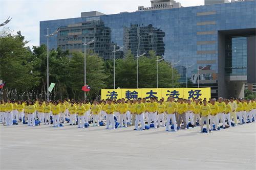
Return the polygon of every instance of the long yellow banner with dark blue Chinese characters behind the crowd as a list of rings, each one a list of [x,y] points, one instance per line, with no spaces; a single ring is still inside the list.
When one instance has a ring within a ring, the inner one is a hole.
[[[206,88],[133,88],[133,89],[101,89],[101,99],[122,99],[132,100],[138,98],[146,98],[149,100],[151,97],[158,99],[164,98],[167,100],[169,96],[173,98],[183,99],[204,99],[207,100],[211,97],[210,87]]]

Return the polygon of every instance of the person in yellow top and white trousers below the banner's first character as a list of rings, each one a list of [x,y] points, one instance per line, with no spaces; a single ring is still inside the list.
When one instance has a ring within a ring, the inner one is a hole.
[[[114,120],[114,111],[116,110],[116,107],[114,104],[112,104],[111,99],[108,100],[108,103],[105,106],[106,111],[106,129],[109,129],[109,126],[111,124],[112,129],[115,129],[115,120]]]

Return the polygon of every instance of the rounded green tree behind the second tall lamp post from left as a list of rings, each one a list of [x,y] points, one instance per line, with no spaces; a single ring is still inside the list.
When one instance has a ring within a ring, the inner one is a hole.
[[[104,63],[102,58],[92,52],[86,54],[86,80],[91,87],[88,93],[89,98],[100,93],[100,89],[105,88],[105,80],[108,76],[104,72]],[[83,99],[84,85],[84,54],[81,52],[73,53],[68,67],[68,85],[72,90],[72,97]]]

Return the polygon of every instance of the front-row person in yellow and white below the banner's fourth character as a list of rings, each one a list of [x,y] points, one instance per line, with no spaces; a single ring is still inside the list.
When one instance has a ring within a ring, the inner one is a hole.
[[[174,126],[174,131],[177,131],[177,123],[176,123],[176,111],[178,110],[177,104],[174,102],[172,97],[168,98],[168,102],[165,105],[166,112],[166,131],[170,130],[170,119],[172,119],[172,125]]]

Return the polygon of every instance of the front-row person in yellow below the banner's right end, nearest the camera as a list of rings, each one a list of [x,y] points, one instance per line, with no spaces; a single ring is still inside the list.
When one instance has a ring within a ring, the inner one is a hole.
[[[200,123],[201,132],[203,132],[203,126],[204,126],[204,122],[205,122],[207,133],[209,133],[209,115],[211,113],[211,110],[210,110],[210,106],[207,105],[206,100],[203,100],[203,105],[200,106],[200,112],[201,112],[201,115],[202,115],[201,123]]]

